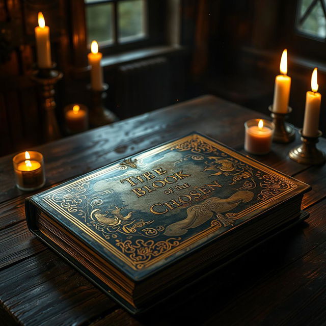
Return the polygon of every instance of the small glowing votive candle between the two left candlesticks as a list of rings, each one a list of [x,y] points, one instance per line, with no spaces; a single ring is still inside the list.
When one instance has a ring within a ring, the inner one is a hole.
[[[66,106],[66,127],[69,132],[80,132],[87,129],[87,108],[82,104]]]

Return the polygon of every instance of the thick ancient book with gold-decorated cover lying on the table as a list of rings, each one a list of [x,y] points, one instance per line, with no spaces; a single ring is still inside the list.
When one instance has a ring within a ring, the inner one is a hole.
[[[194,132],[26,199],[28,226],[131,313],[307,216],[310,186]]]

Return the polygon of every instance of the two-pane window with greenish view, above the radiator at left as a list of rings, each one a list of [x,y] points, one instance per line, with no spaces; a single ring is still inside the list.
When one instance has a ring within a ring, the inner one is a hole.
[[[97,40],[100,47],[145,40],[147,35],[146,0],[85,0],[88,44]]]

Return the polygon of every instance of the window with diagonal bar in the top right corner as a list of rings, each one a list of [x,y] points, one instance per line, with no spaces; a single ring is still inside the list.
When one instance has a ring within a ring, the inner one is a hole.
[[[298,1],[296,29],[307,37],[324,40],[326,37],[325,0]]]

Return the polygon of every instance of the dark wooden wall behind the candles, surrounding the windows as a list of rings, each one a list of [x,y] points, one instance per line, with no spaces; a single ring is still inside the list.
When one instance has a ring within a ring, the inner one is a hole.
[[[164,14],[167,0],[157,1],[162,13],[157,29],[164,30],[170,21]],[[130,107],[129,111],[124,110],[119,105],[123,97],[119,67],[128,62],[118,60],[117,64],[104,67],[105,82],[110,85],[106,105],[112,111],[125,118],[211,93],[267,113],[273,101],[281,53],[286,47],[288,74],[292,77],[293,113],[289,120],[302,126],[305,93],[310,89],[312,69],[317,66],[323,95],[320,129],[326,132],[326,64],[322,54],[325,45],[309,40],[302,43],[303,39],[295,34],[297,0],[180,0],[180,3],[183,47],[163,55],[170,70],[169,80],[165,78],[168,89],[161,87],[167,92],[162,91],[157,98],[164,100],[148,101],[144,108],[144,101],[136,99],[131,111]],[[38,11],[44,13],[50,26],[53,61],[64,72],[57,87],[61,126],[64,105],[89,104],[84,0],[0,0],[0,155],[42,143],[39,132],[42,112],[35,85],[29,78],[35,62],[34,27]],[[154,45],[167,45],[167,38],[162,34]],[[162,53],[145,55],[145,59],[159,56]],[[159,76],[154,82],[159,88]],[[148,95],[144,92],[140,98]]]

